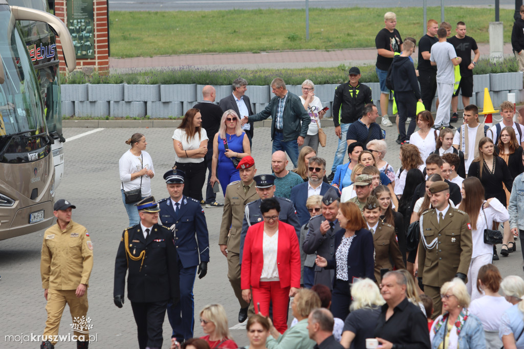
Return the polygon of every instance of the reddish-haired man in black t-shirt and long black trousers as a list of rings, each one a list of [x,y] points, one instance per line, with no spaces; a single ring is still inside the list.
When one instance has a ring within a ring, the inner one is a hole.
[[[436,37],[436,32],[439,30],[439,24],[436,20],[428,20],[428,32],[419,40],[419,83],[420,95],[425,110],[431,112],[431,104],[436,92],[436,66],[432,66],[430,62],[431,46],[439,39]]]

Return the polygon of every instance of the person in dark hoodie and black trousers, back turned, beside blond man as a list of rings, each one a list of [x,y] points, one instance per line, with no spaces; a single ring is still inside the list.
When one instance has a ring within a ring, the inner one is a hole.
[[[412,41],[404,41],[403,52],[400,56],[395,56],[391,68],[391,78],[395,88],[395,102],[398,110],[398,130],[401,144],[409,143],[409,136],[414,132],[417,124],[417,100],[420,99],[419,83],[409,56],[415,51],[415,44]],[[406,119],[411,117],[408,133],[406,134]]]

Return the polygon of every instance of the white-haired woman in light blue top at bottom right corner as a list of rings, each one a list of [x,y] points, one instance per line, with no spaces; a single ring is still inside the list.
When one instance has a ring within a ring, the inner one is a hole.
[[[524,348],[524,280],[516,275],[504,278],[500,283],[504,297],[513,304],[500,318],[498,336],[505,348]]]

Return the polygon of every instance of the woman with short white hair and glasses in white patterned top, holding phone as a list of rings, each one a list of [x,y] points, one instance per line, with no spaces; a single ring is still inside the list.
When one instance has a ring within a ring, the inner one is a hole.
[[[300,96],[300,101],[311,117],[308,134],[305,136],[304,144],[300,146],[300,149],[305,146],[310,146],[318,154],[319,125],[325,111],[322,111],[322,103],[320,103],[319,97],[315,96],[315,84],[311,80],[304,80],[302,83],[302,95]]]

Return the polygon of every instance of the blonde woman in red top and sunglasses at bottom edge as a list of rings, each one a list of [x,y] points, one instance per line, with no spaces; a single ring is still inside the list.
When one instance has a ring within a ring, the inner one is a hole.
[[[200,312],[200,325],[206,334],[201,337],[211,349],[236,349],[227,324],[227,314],[221,304],[210,304]]]

